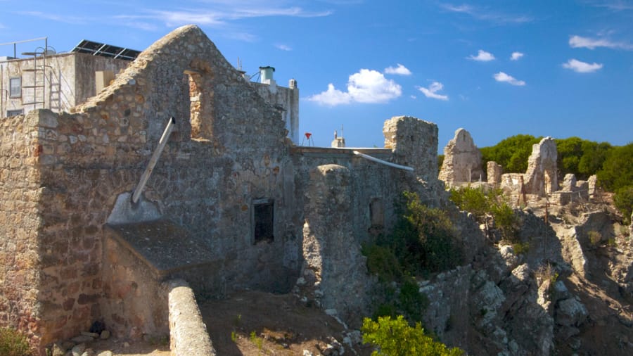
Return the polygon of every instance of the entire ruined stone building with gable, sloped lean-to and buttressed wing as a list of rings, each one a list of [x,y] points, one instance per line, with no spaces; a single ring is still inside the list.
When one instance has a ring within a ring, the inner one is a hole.
[[[174,278],[202,298],[287,292],[309,276],[321,305],[361,317],[370,286],[354,282],[366,274],[359,242],[390,228],[402,190],[442,194],[437,126],[394,117],[385,148],[356,153],[295,146],[289,87],[251,84],[190,25],[70,113],[3,119],[0,326],[27,332],[38,350],[95,320],[120,336],[168,333],[164,282]]]

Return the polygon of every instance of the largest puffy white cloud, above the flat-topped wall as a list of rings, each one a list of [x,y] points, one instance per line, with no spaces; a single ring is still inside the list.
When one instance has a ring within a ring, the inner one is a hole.
[[[383,73],[362,69],[350,75],[347,81],[347,92],[335,89],[333,84],[328,84],[328,90],[309,96],[307,100],[337,106],[352,102],[386,103],[400,95],[402,95],[402,87],[393,80],[385,78]]]

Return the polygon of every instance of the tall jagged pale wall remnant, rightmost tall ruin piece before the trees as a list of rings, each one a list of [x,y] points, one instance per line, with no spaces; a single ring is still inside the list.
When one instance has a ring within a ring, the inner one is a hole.
[[[544,196],[546,192],[558,190],[556,158],[556,141],[551,137],[545,137],[532,146],[528,171],[525,172],[525,193]]]

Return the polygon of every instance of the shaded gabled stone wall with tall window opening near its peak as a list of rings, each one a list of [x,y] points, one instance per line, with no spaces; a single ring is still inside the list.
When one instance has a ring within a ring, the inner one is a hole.
[[[195,97],[186,72],[193,73]],[[103,225],[117,196],[134,189],[170,116],[177,117],[177,132],[146,198],[203,236],[229,288],[290,289],[301,227],[287,223],[293,179],[281,113],[198,27],[160,39],[75,112],[34,112],[39,146],[25,153],[32,160],[37,151],[31,167],[41,174],[39,215],[28,215],[42,220],[34,238],[46,246],[33,257],[41,259],[41,346],[87,329],[105,310],[102,299],[112,286],[103,280]],[[274,241],[252,239],[257,198],[274,201]]]

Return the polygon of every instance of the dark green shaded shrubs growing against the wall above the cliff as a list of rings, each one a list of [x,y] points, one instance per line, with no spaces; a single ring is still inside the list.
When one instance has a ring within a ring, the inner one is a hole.
[[[404,192],[397,202],[392,234],[363,246],[367,269],[382,282],[383,300],[375,317],[404,315],[421,322],[428,305],[416,277],[452,269],[462,261],[452,222],[445,211],[428,208],[416,193]]]

